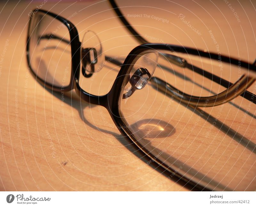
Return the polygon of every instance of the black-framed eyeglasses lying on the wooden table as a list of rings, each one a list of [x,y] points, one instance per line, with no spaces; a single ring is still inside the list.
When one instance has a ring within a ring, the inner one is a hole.
[[[115,2],[111,4],[118,16],[122,16]],[[104,60],[109,59],[104,57],[97,35],[88,31],[80,42],[76,27],[67,19],[44,10],[33,11],[28,28],[27,60],[36,80],[56,92],[75,89],[84,101],[105,107],[122,135],[173,175],[203,188],[229,189],[229,184],[213,179],[214,172],[199,173],[180,162],[179,157],[172,157],[170,146],[175,148],[182,144],[180,140],[172,140],[176,130],[169,123],[175,112],[172,100],[178,100],[180,108],[222,105],[239,95],[255,103],[255,95],[246,89],[255,81],[256,67],[221,55],[223,73],[229,78],[231,74],[236,77],[237,73],[238,80],[232,84],[222,78],[218,54],[147,43],[124,17],[120,18],[135,37],[146,44],[134,48],[124,63],[112,61],[121,69],[110,91],[98,96],[86,92],[79,83],[81,76],[91,78],[100,72]],[[211,71],[219,71],[221,76]],[[189,78],[191,76],[194,80]],[[215,83],[221,87],[215,87]],[[201,118],[206,115],[202,113]],[[155,143],[149,140],[152,137]]]

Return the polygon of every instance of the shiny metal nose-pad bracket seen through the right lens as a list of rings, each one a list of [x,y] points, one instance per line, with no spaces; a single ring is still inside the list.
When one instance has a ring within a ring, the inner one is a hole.
[[[129,98],[136,90],[144,88],[150,78],[151,75],[146,68],[136,70],[129,80],[131,84],[130,90],[123,94],[123,99]]]

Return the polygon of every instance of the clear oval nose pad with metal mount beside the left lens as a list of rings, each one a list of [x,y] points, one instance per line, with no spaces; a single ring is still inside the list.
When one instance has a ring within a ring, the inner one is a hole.
[[[87,31],[81,42],[82,74],[89,78],[93,73],[99,72],[104,64],[105,56],[100,39],[92,32]]]

